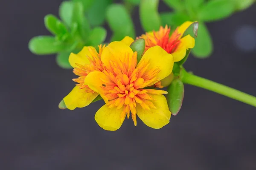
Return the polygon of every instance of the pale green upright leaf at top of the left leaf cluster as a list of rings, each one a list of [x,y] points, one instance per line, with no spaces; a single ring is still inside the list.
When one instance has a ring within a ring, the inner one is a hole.
[[[59,16],[67,26],[71,26],[73,13],[73,3],[70,1],[63,1],[59,7]]]

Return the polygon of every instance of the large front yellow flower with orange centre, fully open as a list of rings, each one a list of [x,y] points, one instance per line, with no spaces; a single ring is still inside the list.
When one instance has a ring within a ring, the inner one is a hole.
[[[167,92],[146,87],[171,74],[173,57],[156,45],[148,48],[137,64],[137,52],[129,47],[132,41],[126,40],[105,47],[100,57],[104,70],[92,71],[84,79],[84,85],[106,102],[96,112],[95,120],[105,130],[117,130],[131,112],[135,126],[138,115],[145,125],[159,129],[171,117],[163,96]]]

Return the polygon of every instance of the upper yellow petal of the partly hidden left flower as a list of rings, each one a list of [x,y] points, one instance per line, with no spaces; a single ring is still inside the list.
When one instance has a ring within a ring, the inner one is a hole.
[[[90,61],[87,59],[86,56],[92,57],[92,55],[89,52],[89,48],[91,48],[93,51],[96,52],[96,49],[88,46],[84,47],[78,54],[71,53],[68,61],[70,62],[70,65],[75,68],[77,67],[76,63],[85,65],[85,64],[90,64]]]

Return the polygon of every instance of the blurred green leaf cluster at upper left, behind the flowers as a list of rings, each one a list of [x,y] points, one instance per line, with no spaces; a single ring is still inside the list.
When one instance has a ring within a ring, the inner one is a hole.
[[[52,14],[44,17],[45,27],[53,36],[37,36],[29,41],[29,50],[38,55],[57,54],[56,62],[61,68],[71,68],[68,57],[79,52],[83,46],[97,46],[105,41],[107,31],[102,27],[105,20],[113,31],[111,41],[125,36],[135,37],[129,10],[140,0],[70,0],[59,7],[59,20]]]

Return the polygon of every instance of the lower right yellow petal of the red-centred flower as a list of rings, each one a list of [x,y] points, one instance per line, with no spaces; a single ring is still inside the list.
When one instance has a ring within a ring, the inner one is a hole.
[[[174,62],[178,62],[181,59],[183,59],[186,56],[186,51],[189,48],[194,48],[194,46],[195,46],[195,39],[190,35],[186,35],[185,37],[180,39],[179,46],[177,47],[175,52],[172,53]]]

